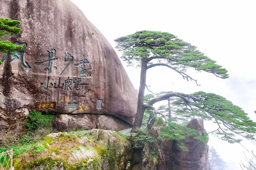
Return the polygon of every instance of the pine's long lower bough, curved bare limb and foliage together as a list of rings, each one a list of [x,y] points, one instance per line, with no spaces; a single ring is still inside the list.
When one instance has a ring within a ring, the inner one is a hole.
[[[152,97],[152,96],[151,96]],[[256,123],[247,117],[247,114],[238,106],[220,95],[199,91],[190,95],[178,92],[164,92],[144,103],[144,107],[154,109],[158,101],[172,99],[171,105],[175,108],[173,114],[180,117],[200,117],[204,120],[213,120],[217,128],[209,133],[220,136],[222,140],[230,143],[240,142],[236,136],[254,139]],[[171,108],[166,108],[165,112]],[[157,111],[155,109],[156,113]],[[163,113],[160,113],[164,115]]]

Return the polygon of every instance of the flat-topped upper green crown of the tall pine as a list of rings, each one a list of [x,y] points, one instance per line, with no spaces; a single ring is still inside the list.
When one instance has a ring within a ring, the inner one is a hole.
[[[143,58],[158,59],[158,63],[166,63],[177,71],[186,71],[194,67],[198,71],[206,71],[223,79],[228,78],[227,70],[217,65],[204,53],[190,43],[184,42],[167,32],[138,31],[115,40],[116,48],[123,51],[122,59],[140,67]],[[181,67],[182,66],[182,67]]]

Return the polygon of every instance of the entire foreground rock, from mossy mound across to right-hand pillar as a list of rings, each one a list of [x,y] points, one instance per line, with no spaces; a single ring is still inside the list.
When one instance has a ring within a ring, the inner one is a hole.
[[[201,119],[192,119],[188,127],[198,130],[199,136],[205,133]],[[152,127],[149,135],[154,142],[134,148],[135,138],[121,132],[92,129],[51,133],[40,142],[20,146],[14,166],[18,170],[210,170],[207,140],[187,138],[189,152],[182,152],[174,141],[159,140],[160,127]]]

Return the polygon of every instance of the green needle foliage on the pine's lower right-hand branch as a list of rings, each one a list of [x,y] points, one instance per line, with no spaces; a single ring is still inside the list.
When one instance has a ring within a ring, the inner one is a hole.
[[[204,120],[213,120],[217,125],[217,129],[211,133],[230,143],[240,142],[241,139],[237,138],[237,136],[247,139],[255,138],[256,123],[231,101],[214,93],[205,93],[203,91],[193,93],[191,96],[198,98],[198,101],[190,103],[194,108],[193,110],[187,109],[186,103],[181,99],[172,103],[172,105],[181,107],[178,112],[182,113],[183,116],[198,116]]]

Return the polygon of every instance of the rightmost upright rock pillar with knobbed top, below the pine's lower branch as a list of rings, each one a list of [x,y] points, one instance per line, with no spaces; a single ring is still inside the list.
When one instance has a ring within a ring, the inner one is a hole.
[[[203,119],[191,119],[187,127],[198,130],[199,136],[206,132]],[[188,147],[188,152],[182,152],[180,148],[176,148],[178,151],[175,153],[174,170],[210,170],[207,143],[188,137],[185,146]]]

